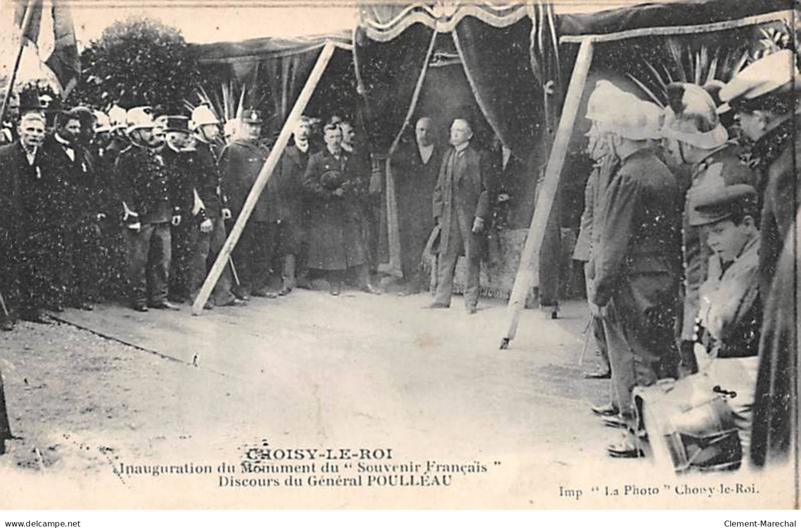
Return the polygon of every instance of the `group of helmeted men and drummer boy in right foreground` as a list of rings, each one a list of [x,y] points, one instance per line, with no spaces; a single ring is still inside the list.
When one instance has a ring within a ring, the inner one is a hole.
[[[655,418],[666,425],[650,441],[681,438],[677,470],[739,466],[741,452],[752,466],[791,456],[795,300],[783,290],[795,277],[777,264],[783,252],[795,262],[798,76],[784,50],[726,84],[670,84],[664,110],[608,81],[590,95],[595,167],[574,259],[598,343],[600,368],[586,377],[610,377],[610,401],[592,410],[624,432],[613,457],[642,455],[645,409],[633,396],[647,403],[644,389],[667,378],[677,389],[658,398],[685,399]],[[699,389],[699,371],[716,389]],[[692,413],[718,393],[726,416]],[[736,429],[734,447],[722,423]]]

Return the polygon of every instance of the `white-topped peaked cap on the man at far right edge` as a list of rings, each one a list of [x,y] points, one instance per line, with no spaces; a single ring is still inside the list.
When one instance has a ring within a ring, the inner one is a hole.
[[[795,53],[781,50],[752,62],[720,89],[718,97],[723,105],[718,113],[723,114],[740,100],[753,101],[774,92],[795,90],[795,79],[799,77],[795,64]]]

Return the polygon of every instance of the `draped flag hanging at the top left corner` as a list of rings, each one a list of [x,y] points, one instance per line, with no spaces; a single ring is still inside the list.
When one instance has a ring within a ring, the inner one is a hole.
[[[26,12],[30,20],[22,33],[23,45],[36,50],[40,66],[46,67],[58,81],[62,92],[69,92],[81,75],[78,42],[72,13],[66,0],[17,0],[14,22],[22,29]],[[42,60],[43,57],[46,57]]]

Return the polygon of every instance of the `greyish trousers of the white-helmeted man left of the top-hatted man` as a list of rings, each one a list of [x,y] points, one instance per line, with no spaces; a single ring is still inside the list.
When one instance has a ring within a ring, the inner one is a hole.
[[[133,304],[158,304],[167,300],[172,241],[169,222],[142,224],[129,229],[128,288]]]

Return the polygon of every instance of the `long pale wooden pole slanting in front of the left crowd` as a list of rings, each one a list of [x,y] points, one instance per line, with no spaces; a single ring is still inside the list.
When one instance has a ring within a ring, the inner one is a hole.
[[[253,182],[253,187],[251,187],[250,194],[248,194],[248,198],[242,206],[242,211],[239,212],[239,217],[236,219],[234,227],[228,234],[223,248],[219,251],[217,259],[211,267],[211,271],[208,272],[208,276],[203,282],[203,287],[200,288],[195,303],[192,304],[192,315],[197,316],[203,312],[203,304],[206,304],[208,297],[211,295],[211,290],[214,289],[215,284],[217,284],[217,280],[228,262],[228,256],[230,256],[231,252],[234,250],[236,243],[239,241],[239,236],[242,235],[245,224],[248,223],[248,218],[253,212],[253,208],[256,207],[256,202],[259,200],[261,191],[267,184],[268,179],[270,179],[273,169],[276,168],[276,164],[281,154],[284,152],[284,147],[289,143],[289,136],[292,135],[292,126],[300,119],[300,115],[303,115],[303,111],[309,99],[312,98],[317,83],[320,82],[320,77],[322,77],[325,67],[328,66],[328,61],[331,60],[334,50],[336,50],[334,42],[327,42],[323,50],[320,51],[320,56],[317,58],[312,73],[306,80],[306,85],[303,87],[303,90],[300,91],[300,95],[298,95],[298,99],[295,102],[295,106],[292,107],[292,111],[289,112],[287,120],[284,122],[284,127],[281,128],[281,133],[278,135],[278,139],[276,139],[276,144],[273,145],[272,151],[270,151],[270,155],[268,155],[267,160],[264,162],[264,166],[261,167],[256,181]]]

